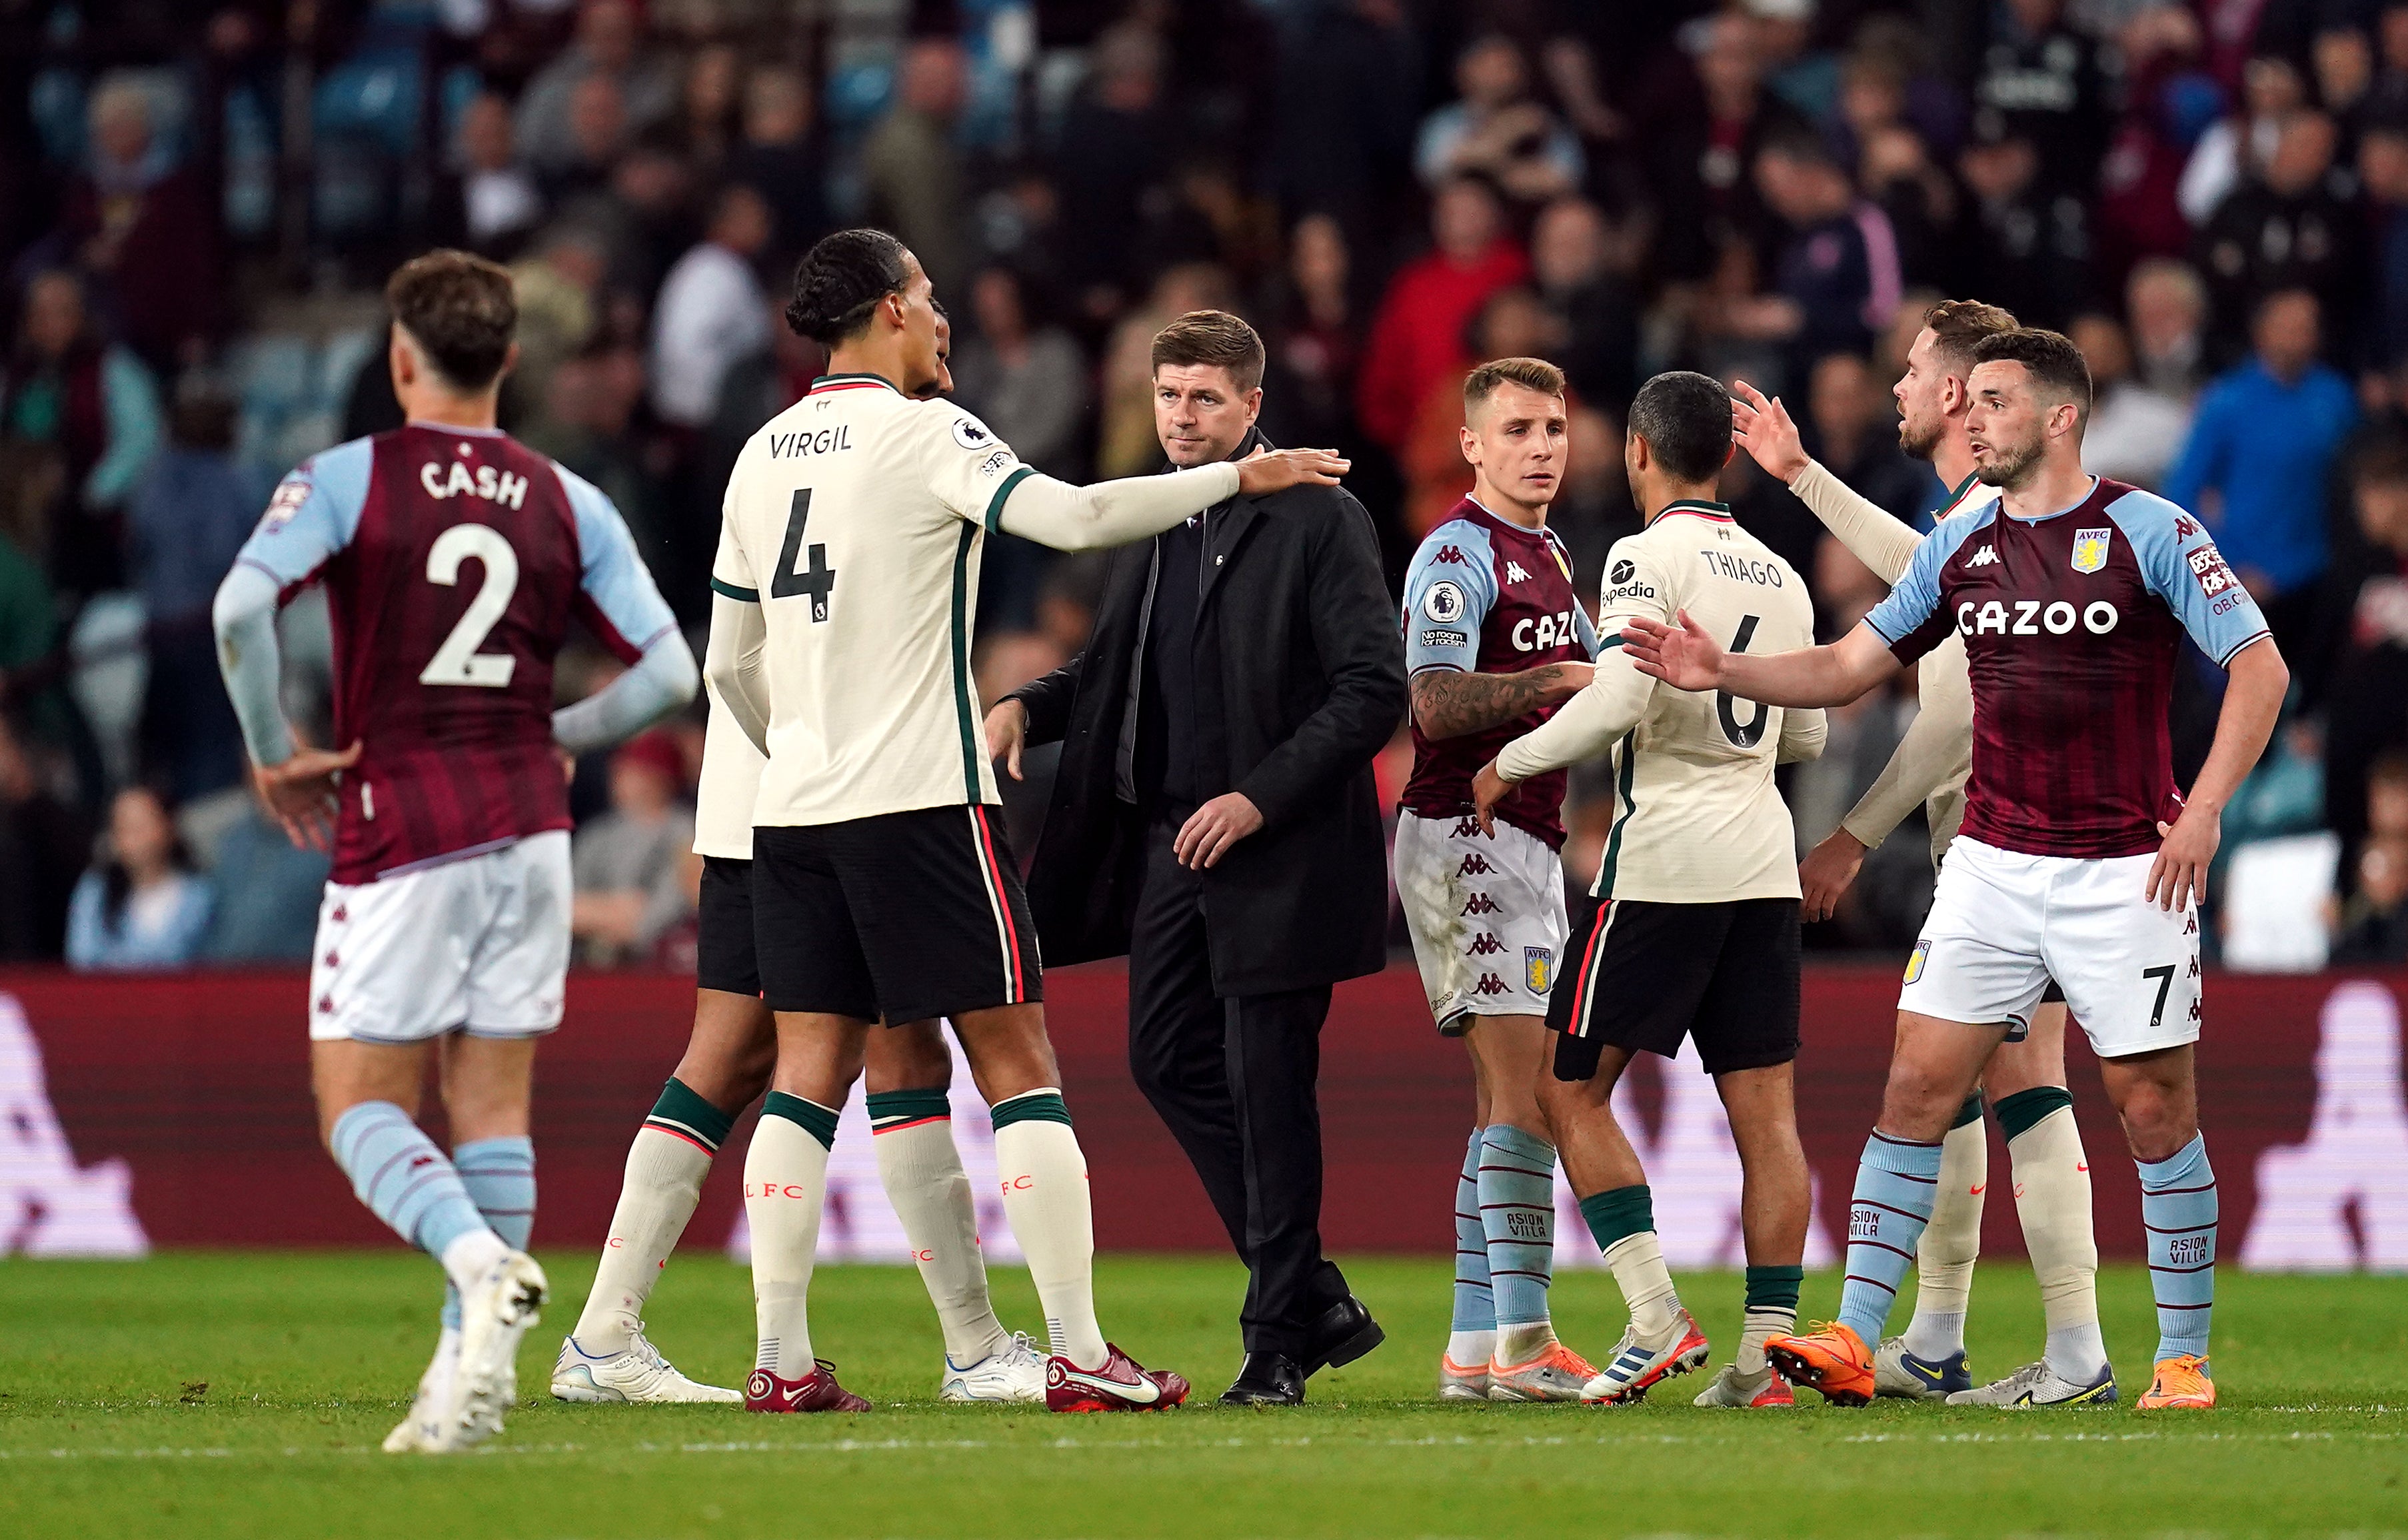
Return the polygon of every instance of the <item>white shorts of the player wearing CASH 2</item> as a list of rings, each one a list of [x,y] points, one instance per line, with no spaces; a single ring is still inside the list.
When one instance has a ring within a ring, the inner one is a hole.
[[[568,830],[347,888],[308,970],[313,1040],[535,1037],[568,984]]]

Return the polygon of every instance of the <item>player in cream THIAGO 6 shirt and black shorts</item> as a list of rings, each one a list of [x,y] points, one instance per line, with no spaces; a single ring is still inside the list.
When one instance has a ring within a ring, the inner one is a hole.
[[[1637,1400],[1707,1357],[1664,1268],[1647,1172],[1611,1104],[1635,1054],[1669,1059],[1683,1037],[1714,1076],[1746,1172],[1746,1331],[1698,1405],[1792,1400],[1763,1352],[1796,1323],[1811,1203],[1792,1085],[1796,847],[1772,768],[1823,753],[1823,712],[1666,691],[1621,645],[1630,621],[1681,611],[1734,652],[1813,640],[1806,582],[1712,500],[1729,457],[1731,397],[1719,383],[1676,371],[1640,387],[1623,464],[1647,527],[1606,556],[1597,676],[1551,722],[1505,744],[1471,787],[1491,823],[1534,777],[1613,756],[1613,830],[1548,996],[1546,1023],[1560,1037],[1539,1083],[1580,1213],[1630,1307],[1613,1357],[1582,1386],[1592,1403]]]

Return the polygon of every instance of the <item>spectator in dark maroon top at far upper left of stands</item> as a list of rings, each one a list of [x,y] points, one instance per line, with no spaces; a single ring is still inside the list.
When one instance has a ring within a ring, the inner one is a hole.
[[[200,171],[176,166],[152,132],[142,87],[104,79],[89,116],[92,152],[67,183],[55,260],[101,284],[125,344],[166,373],[217,337],[219,217]]]

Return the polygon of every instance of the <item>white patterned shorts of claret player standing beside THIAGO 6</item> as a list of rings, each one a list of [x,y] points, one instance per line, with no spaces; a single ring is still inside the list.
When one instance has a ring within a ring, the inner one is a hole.
[[[1546,1015],[1570,929],[1563,861],[1503,818],[1397,813],[1397,898],[1421,962],[1421,991],[1447,1037],[1474,1015]]]

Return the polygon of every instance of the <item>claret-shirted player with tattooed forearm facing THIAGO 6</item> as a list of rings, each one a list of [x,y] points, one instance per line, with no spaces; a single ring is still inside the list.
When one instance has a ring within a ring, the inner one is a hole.
[[[1563,782],[1471,816],[1471,772],[1589,683],[1597,633],[1546,527],[1565,467],[1563,371],[1498,359],[1464,380],[1474,484],[1404,578],[1413,777],[1397,813],[1397,898],[1430,1015],[1471,1049],[1476,1124],[1454,1186],[1447,1400],[1577,1400],[1597,1374],[1556,1340],[1556,1143],[1539,1112],[1546,989],[1563,955]]]

